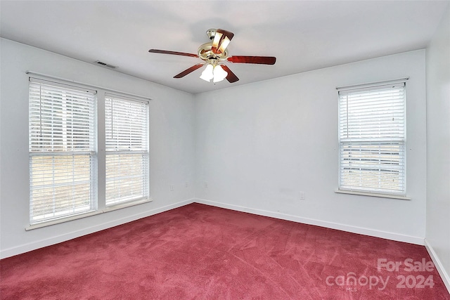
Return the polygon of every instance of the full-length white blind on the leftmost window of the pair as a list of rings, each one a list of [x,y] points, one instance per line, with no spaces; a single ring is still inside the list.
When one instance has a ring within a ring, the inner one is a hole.
[[[95,209],[96,91],[30,77],[30,223]]]

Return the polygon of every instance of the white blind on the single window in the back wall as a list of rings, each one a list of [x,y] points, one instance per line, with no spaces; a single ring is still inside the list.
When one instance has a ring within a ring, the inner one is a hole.
[[[340,190],[406,195],[405,84],[339,92]]]

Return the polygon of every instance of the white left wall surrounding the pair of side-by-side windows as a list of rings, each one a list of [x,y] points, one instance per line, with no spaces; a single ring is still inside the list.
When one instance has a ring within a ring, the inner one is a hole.
[[[1,257],[191,202],[195,169],[193,95],[7,39],[0,41]],[[27,70],[153,98],[150,101],[150,194],[153,202],[25,231],[30,224]],[[171,184],[174,185],[172,192]]]

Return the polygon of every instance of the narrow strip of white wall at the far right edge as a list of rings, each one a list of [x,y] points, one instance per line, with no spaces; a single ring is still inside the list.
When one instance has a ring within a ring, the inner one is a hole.
[[[426,62],[426,242],[450,291],[450,6],[427,48]]]

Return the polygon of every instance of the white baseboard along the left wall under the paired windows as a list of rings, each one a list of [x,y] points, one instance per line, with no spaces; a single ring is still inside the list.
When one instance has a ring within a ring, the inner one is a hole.
[[[194,199],[188,199],[188,200],[184,200],[184,201],[181,201],[181,202],[176,202],[174,204],[169,204],[169,205],[166,205],[164,207],[158,207],[158,208],[155,208],[155,209],[150,209],[148,211],[142,211],[139,214],[133,214],[133,215],[130,215],[130,216],[125,216],[125,217],[123,217],[121,219],[115,219],[113,221],[100,223],[100,224],[97,224],[96,226],[83,228],[82,230],[71,231],[70,233],[66,233],[64,235],[57,235],[57,236],[54,236],[54,237],[46,238],[44,240],[39,240],[37,242],[32,242],[32,243],[28,243],[28,244],[22,244],[22,245],[17,246],[17,247],[11,247],[11,248],[8,248],[8,249],[3,249],[3,250],[0,251],[0,259],[6,259],[6,257],[15,256],[15,255],[22,254],[22,253],[25,253],[25,252],[30,252],[30,251],[35,250],[35,249],[39,249],[39,248],[42,248],[42,247],[50,246],[52,244],[58,244],[60,242],[65,242],[67,240],[72,240],[72,239],[74,239],[76,237],[81,237],[83,235],[89,235],[91,233],[96,233],[97,231],[100,231],[100,230],[105,230],[105,229],[108,229],[108,228],[119,226],[119,225],[122,225],[124,223],[131,222],[131,221],[136,221],[136,220],[139,220],[139,219],[142,219],[142,218],[146,218],[147,216],[152,216],[154,214],[159,214],[161,212],[168,211],[170,209],[176,209],[177,207],[182,207],[182,206],[184,206],[186,204],[191,204],[193,202],[194,202]]]

